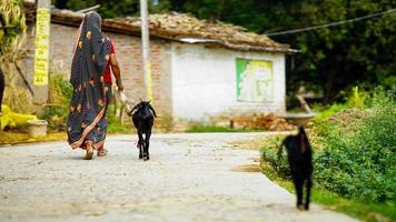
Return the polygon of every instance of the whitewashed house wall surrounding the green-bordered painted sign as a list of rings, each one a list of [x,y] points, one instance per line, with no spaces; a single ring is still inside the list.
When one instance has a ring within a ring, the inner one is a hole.
[[[174,118],[208,121],[220,114],[285,111],[285,54],[239,52],[200,44],[171,46]],[[273,61],[275,98],[271,102],[238,102],[236,59]]]

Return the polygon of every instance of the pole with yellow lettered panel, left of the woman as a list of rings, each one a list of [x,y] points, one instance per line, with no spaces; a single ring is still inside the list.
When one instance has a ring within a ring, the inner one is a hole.
[[[50,44],[50,24],[51,24],[51,1],[38,0],[36,16],[36,39],[34,39],[34,80],[33,103],[36,111],[40,113],[42,105],[48,100],[49,83],[49,44]]]

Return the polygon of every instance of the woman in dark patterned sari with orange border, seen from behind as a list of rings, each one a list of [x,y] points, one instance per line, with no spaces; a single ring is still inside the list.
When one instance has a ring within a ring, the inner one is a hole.
[[[68,142],[72,149],[87,151],[85,159],[91,160],[93,150],[106,155],[103,143],[107,133],[106,110],[111,99],[110,82],[105,80],[111,65],[118,90],[122,90],[119,67],[111,41],[101,32],[101,18],[88,13],[78,31],[73,49],[70,83],[73,93],[67,121]],[[106,78],[108,79],[108,77]]]

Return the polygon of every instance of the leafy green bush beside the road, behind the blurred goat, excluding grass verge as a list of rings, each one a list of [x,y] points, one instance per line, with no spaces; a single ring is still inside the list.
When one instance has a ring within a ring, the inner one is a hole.
[[[377,88],[366,97],[365,109],[340,110],[315,123],[308,134],[316,183],[346,198],[396,201],[395,92]],[[264,148],[263,159],[287,178],[286,155],[278,158],[276,140]]]

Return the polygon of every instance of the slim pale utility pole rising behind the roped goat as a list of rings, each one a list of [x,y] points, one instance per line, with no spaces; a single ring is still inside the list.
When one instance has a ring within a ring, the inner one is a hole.
[[[141,20],[141,49],[143,54],[142,67],[143,67],[143,80],[146,87],[146,99],[154,102],[147,0],[140,0],[140,20]]]

